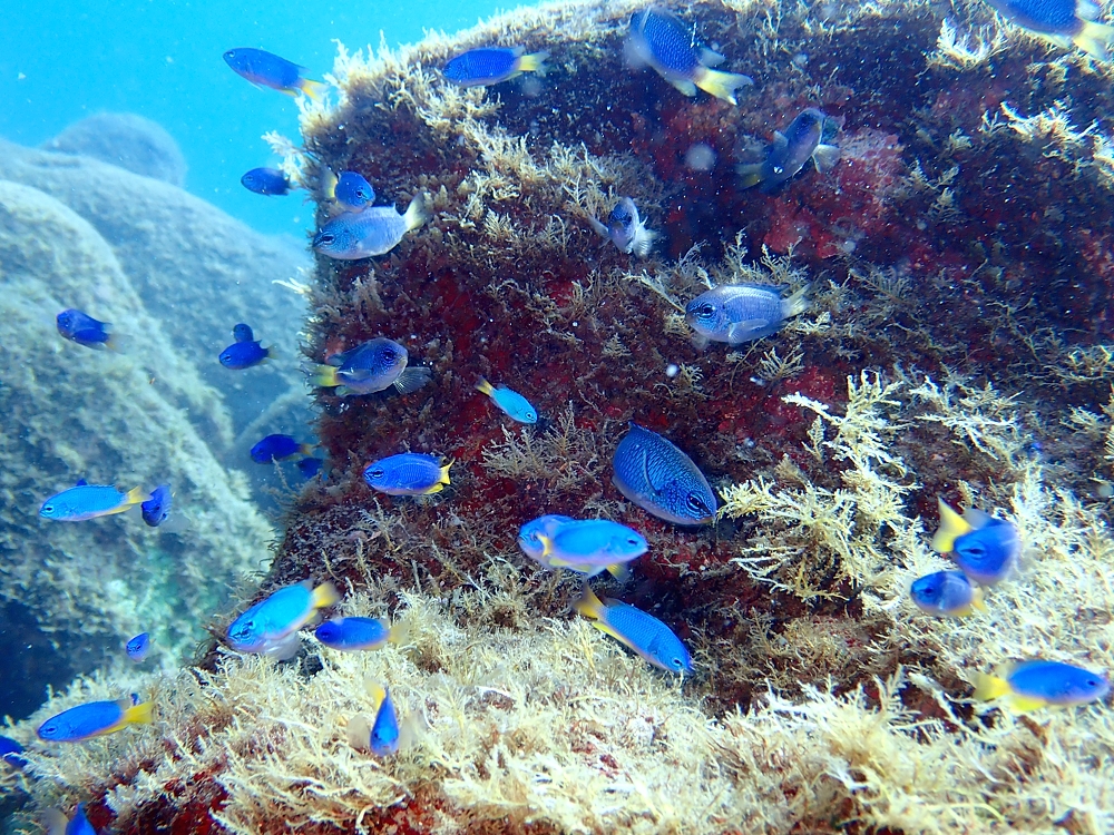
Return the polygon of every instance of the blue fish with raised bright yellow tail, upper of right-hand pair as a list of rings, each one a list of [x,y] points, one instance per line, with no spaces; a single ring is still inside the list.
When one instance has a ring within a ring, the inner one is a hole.
[[[1017,568],[1022,540],[1013,522],[994,519],[968,508],[959,515],[938,499],[940,528],[932,537],[932,550],[950,553],[956,564],[979,586],[994,586]]]

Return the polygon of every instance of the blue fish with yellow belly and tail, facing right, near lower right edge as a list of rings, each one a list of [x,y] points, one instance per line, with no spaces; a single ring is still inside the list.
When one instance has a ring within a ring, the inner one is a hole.
[[[1017,713],[1047,705],[1068,707],[1097,701],[1110,692],[1110,681],[1101,672],[1061,661],[1023,661],[1009,667],[1005,676],[978,674],[975,698],[980,701],[1006,697]]]

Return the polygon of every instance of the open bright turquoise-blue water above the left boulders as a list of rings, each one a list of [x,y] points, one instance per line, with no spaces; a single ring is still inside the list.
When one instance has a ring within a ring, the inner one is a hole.
[[[0,137],[38,145],[101,110],[159,122],[178,141],[186,188],[262,232],[301,237],[312,208],[240,185],[276,160],[261,139],[297,136],[294,100],[260,90],[221,56],[257,47],[309,68],[332,69],[333,39],[349,49],[412,42],[423,28],[456,31],[491,14],[494,0],[263,3],[227,0],[45,0],[4,3],[0,16]],[[14,48],[12,48],[14,45]]]

